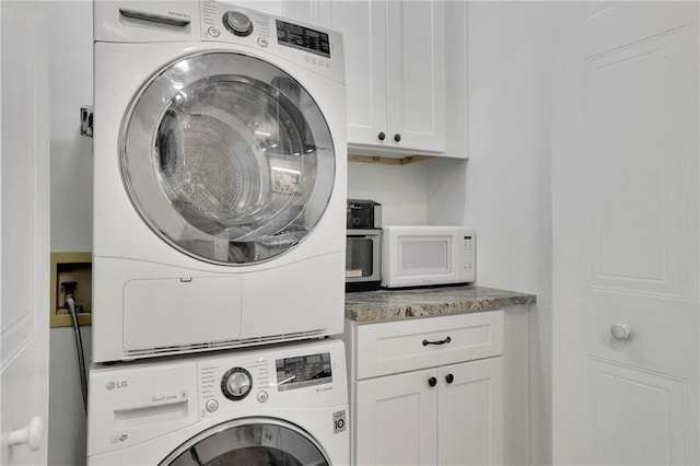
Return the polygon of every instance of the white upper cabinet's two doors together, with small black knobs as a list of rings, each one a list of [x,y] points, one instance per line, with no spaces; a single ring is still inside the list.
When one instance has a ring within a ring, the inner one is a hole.
[[[320,10],[322,25],[343,34],[350,147],[445,152],[444,3],[332,0]]]

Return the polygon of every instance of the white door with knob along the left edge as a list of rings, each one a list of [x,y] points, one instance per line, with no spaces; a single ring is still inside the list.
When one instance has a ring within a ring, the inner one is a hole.
[[[47,464],[50,229],[45,8],[31,1],[0,2],[0,464],[7,466]],[[28,444],[11,445],[15,441]]]

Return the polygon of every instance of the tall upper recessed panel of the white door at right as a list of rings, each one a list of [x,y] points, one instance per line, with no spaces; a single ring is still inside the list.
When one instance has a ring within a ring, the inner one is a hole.
[[[586,60],[593,288],[682,298],[687,33],[676,28]]]

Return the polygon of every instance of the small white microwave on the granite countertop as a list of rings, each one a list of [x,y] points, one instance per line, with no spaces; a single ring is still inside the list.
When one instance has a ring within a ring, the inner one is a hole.
[[[466,226],[385,226],[382,287],[470,283],[476,279],[476,232]]]

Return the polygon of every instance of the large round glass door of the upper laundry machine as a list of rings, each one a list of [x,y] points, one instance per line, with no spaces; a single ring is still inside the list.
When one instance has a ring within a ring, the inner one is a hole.
[[[249,265],[311,233],[336,165],[328,125],[296,80],[217,51],[173,62],[143,85],[121,126],[121,173],[164,241],[209,263]]]

